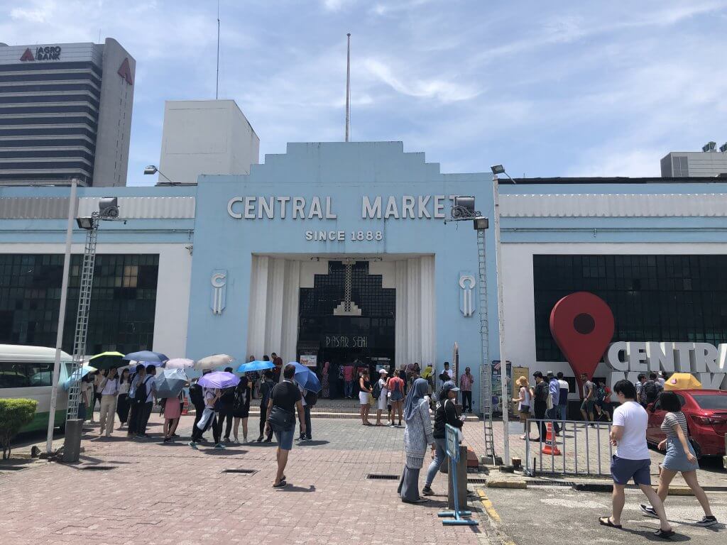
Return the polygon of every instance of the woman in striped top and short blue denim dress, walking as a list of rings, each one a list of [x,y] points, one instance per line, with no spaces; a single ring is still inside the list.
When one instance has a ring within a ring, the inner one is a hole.
[[[669,494],[669,485],[677,473],[681,473],[684,481],[691,488],[692,493],[694,493],[697,501],[704,509],[704,517],[702,517],[702,520],[698,520],[696,525],[713,526],[717,524],[717,519],[712,514],[707,494],[699,486],[699,480],[696,478],[699,463],[696,460],[694,448],[687,439],[689,432],[686,417],[681,411],[679,397],[674,392],[664,392],[659,397],[659,403],[662,411],[669,412],[664,416],[662,422],[662,432],[667,437],[659,443],[659,450],[667,451],[667,455],[664,456],[664,461],[662,461],[662,470],[659,473],[659,490],[656,493],[664,503]],[[648,517],[657,517],[656,511],[651,505],[642,504],[641,510]]]

